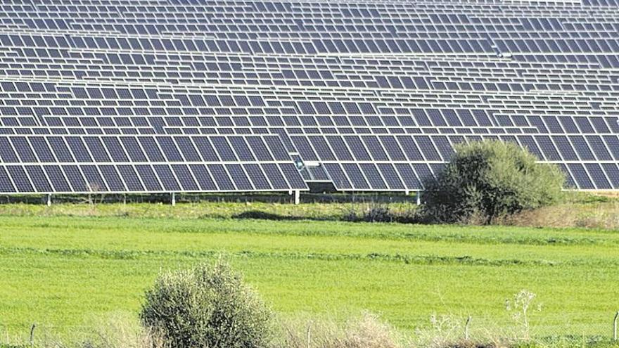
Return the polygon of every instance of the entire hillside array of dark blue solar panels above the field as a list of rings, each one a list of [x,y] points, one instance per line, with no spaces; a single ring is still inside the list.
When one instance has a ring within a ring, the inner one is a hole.
[[[618,55],[618,0],[3,0],[0,193],[421,191],[482,139],[618,189]]]

